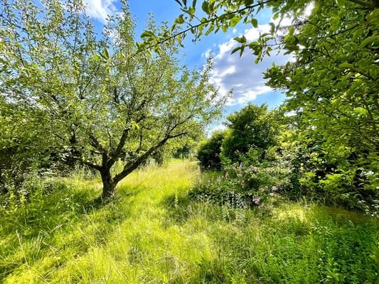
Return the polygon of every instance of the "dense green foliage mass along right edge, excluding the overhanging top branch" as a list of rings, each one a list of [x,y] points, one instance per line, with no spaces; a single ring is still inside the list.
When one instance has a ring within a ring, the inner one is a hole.
[[[303,182],[348,206],[378,205],[378,16],[378,8],[317,1],[283,38],[296,60],[266,72],[297,113],[296,139],[308,148]]]

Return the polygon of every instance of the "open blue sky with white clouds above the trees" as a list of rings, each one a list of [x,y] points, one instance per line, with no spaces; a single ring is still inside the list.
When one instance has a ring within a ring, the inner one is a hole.
[[[105,18],[109,13],[115,13],[119,9],[118,0],[85,0],[88,5],[87,14],[94,18],[97,28],[101,29]],[[201,1],[198,1],[201,4]],[[174,0],[129,0],[130,11],[137,16],[136,34],[139,35],[144,30],[146,18],[149,12],[154,14],[157,24],[162,21],[173,23],[174,19],[181,13],[180,6]],[[201,11],[201,9],[199,9]],[[241,109],[248,102],[253,104],[267,103],[269,107],[277,107],[284,99],[280,92],[273,92],[265,86],[262,72],[272,65],[284,64],[289,60],[284,55],[272,55],[265,58],[258,65],[254,63],[254,56],[247,50],[240,58],[237,53],[230,55],[237,43],[233,38],[244,34],[249,40],[257,38],[259,32],[264,33],[269,29],[270,11],[261,11],[257,16],[260,23],[258,28],[252,28],[243,24],[235,26],[227,33],[219,31],[201,38],[201,41],[192,43],[191,35],[185,40],[183,63],[190,68],[201,67],[207,55],[212,52],[214,59],[214,70],[212,74],[213,82],[220,87],[221,92],[228,92],[233,89],[233,97],[228,101],[226,113]],[[218,128],[220,126],[213,126]]]

